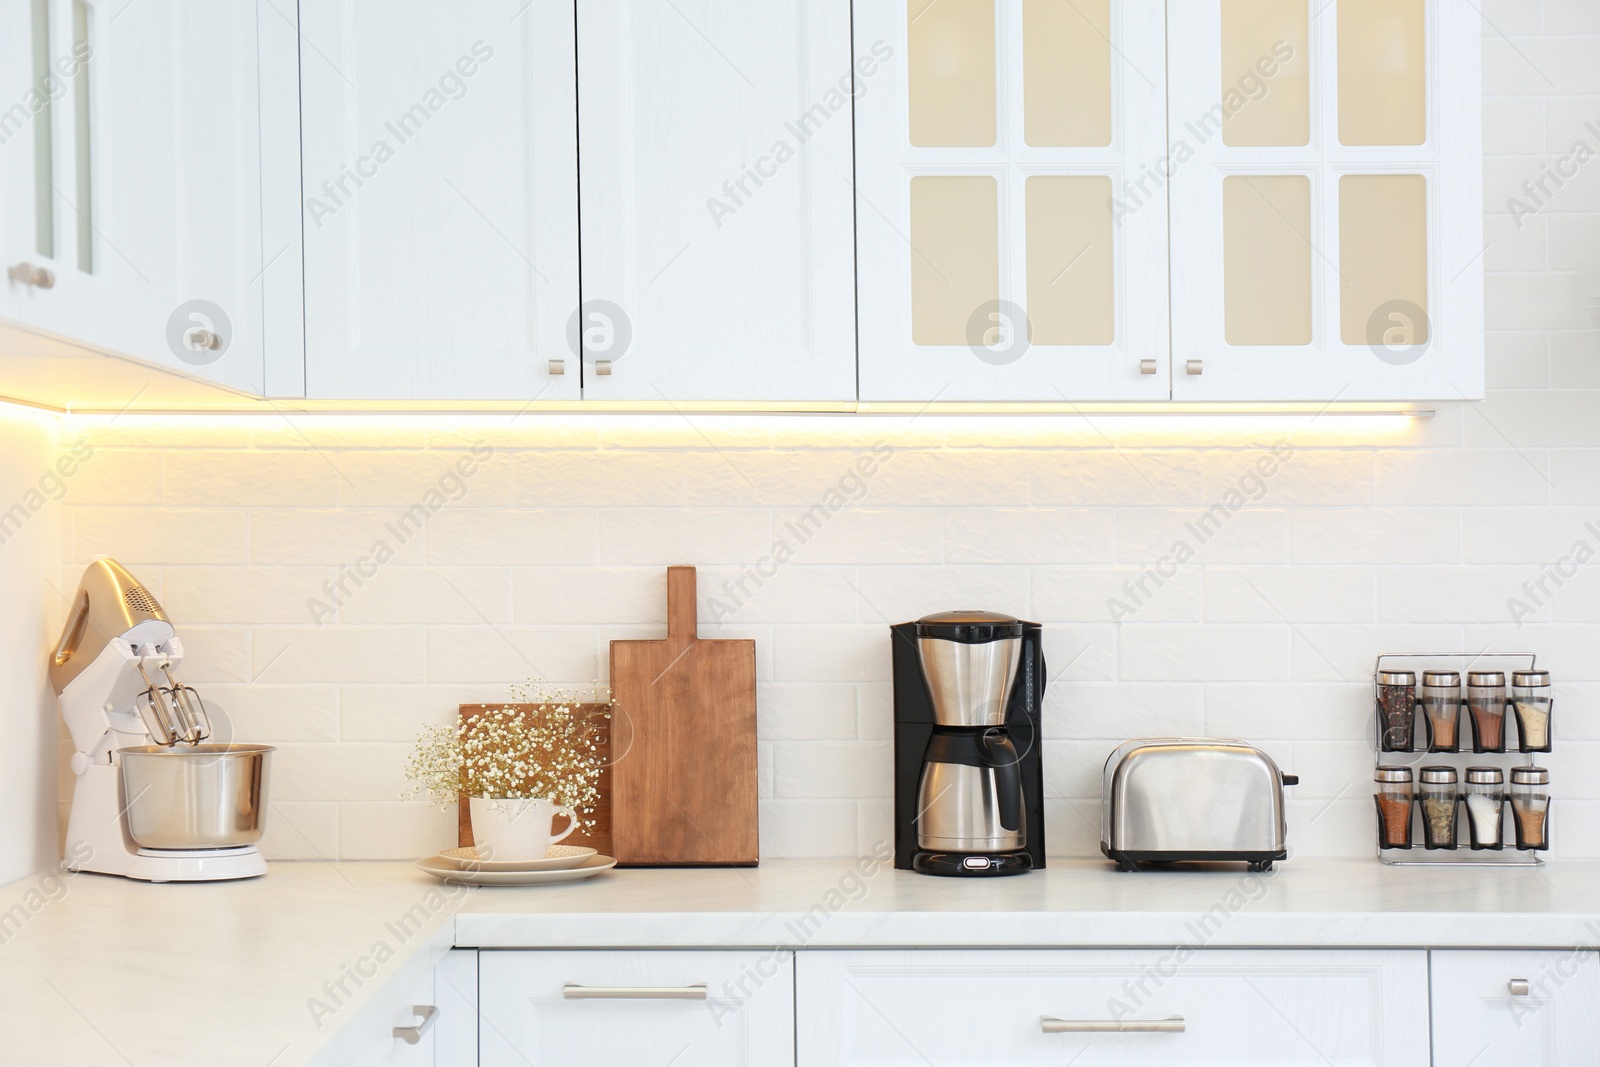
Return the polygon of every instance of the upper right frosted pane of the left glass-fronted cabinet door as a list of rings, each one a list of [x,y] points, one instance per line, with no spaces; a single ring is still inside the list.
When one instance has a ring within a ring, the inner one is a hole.
[[[1110,144],[1110,0],[1022,5],[1022,133],[1038,147]]]

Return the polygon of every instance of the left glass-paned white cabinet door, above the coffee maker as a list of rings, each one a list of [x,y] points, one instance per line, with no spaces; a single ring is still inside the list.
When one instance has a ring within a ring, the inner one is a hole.
[[[858,0],[862,402],[1165,400],[1162,0]]]

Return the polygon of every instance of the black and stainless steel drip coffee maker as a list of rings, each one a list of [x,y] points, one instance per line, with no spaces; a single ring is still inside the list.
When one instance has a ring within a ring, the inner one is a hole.
[[[1043,867],[1040,625],[941,611],[890,633],[894,865],[957,877]]]

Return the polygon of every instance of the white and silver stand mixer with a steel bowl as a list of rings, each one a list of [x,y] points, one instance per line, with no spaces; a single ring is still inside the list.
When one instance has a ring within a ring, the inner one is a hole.
[[[272,749],[206,744],[211,720],[178,680],[182,659],[155,597],[94,560],[50,661],[75,747],[67,869],[141,881],[267,873],[256,841]]]

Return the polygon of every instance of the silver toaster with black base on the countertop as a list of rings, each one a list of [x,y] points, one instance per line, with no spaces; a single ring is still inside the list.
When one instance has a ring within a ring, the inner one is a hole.
[[[1101,851],[1122,870],[1186,859],[1285,859],[1283,787],[1261,749],[1216,737],[1128,741],[1106,760]]]

